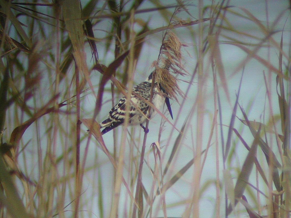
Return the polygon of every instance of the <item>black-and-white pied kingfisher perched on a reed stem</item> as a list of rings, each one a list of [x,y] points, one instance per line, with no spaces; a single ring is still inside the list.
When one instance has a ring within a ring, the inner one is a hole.
[[[140,83],[139,85],[136,85],[132,92],[138,94],[139,96],[143,97],[145,100],[150,101],[150,95],[151,95],[151,87],[152,87],[152,77],[153,77],[153,71],[148,78]],[[143,123],[146,121],[146,119],[151,119],[156,115],[156,111],[151,108],[149,112],[149,105],[139,99],[137,96],[134,95],[134,93],[131,94],[131,101],[129,102],[129,125],[137,125],[140,124],[140,126],[144,129],[145,132],[148,132],[148,129],[145,129],[143,126]],[[160,84],[155,81],[154,89],[153,89],[153,96],[152,96],[152,104],[159,110],[159,108],[163,105],[163,103],[166,102],[166,105],[168,107],[168,111],[173,119],[171,105],[169,102],[169,98],[167,97],[166,91],[161,87]],[[143,114],[139,110],[136,109],[138,107]],[[110,110],[109,115],[107,119],[105,119],[101,124],[100,128],[104,128],[101,132],[101,134],[105,134],[109,132],[111,129],[114,129],[115,127],[122,125],[125,120],[125,107],[126,107],[126,97],[123,96],[118,103]],[[147,117],[147,118],[146,118]]]

